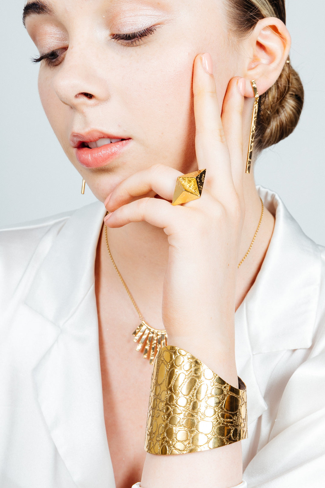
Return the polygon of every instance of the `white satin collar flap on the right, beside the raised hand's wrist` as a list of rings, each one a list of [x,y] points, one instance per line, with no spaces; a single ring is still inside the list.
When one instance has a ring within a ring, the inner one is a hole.
[[[308,348],[320,293],[321,251],[276,193],[258,189],[276,220],[267,255],[246,297],[252,353]]]

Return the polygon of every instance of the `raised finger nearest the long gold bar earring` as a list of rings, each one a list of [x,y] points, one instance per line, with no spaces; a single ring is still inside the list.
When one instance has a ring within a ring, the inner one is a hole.
[[[237,194],[243,196],[243,108],[245,79],[232,78],[222,106],[221,121],[227,140],[231,174]]]

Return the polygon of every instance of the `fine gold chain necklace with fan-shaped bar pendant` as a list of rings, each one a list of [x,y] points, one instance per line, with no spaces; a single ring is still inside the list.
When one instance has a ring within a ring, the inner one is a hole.
[[[253,237],[253,240],[252,240],[252,242],[251,242],[251,244],[249,246],[249,250],[247,251],[247,253],[243,257],[243,259],[241,260],[241,262],[238,264],[238,268],[241,266],[241,264],[244,263],[245,259],[249,255],[249,253],[251,251],[251,248],[253,247],[253,244],[255,242],[257,233],[258,233],[258,231],[260,229],[260,226],[261,226],[261,222],[262,222],[263,214],[264,214],[264,204],[263,204],[263,201],[262,201],[261,198],[260,198],[260,200],[261,200],[261,203],[262,203],[262,213],[261,213],[260,222],[258,223],[256,232],[255,232],[254,237]],[[138,316],[139,316],[139,318],[141,320],[141,324],[136,327],[136,329],[134,330],[134,332],[132,334],[133,337],[134,337],[134,339],[133,339],[134,342],[137,342],[138,343],[138,345],[136,346],[136,350],[137,351],[141,351],[141,349],[143,349],[143,357],[145,359],[149,359],[149,363],[152,364],[153,363],[153,360],[155,358],[155,355],[157,354],[158,350],[161,347],[167,346],[167,332],[166,332],[166,330],[153,329],[152,327],[150,327],[150,325],[146,324],[146,322],[144,321],[143,315],[141,314],[138,306],[136,305],[136,303],[134,301],[134,298],[131,295],[131,292],[130,292],[127,284],[125,283],[125,281],[122,278],[121,273],[117,269],[117,266],[115,264],[115,261],[113,259],[112,254],[111,254],[110,246],[108,245],[107,226],[104,225],[104,227],[105,227],[106,247],[107,247],[109,256],[111,258],[111,261],[113,263],[113,266],[115,267],[115,270],[116,270],[116,272],[118,274],[118,277],[121,280],[122,285],[124,286],[127,294],[129,295],[129,298],[130,298],[130,300],[131,300],[131,302],[132,302],[132,304],[133,304],[133,306],[134,306],[134,308],[135,308],[135,310],[136,310],[136,312],[137,312],[137,314],[138,314]]]

